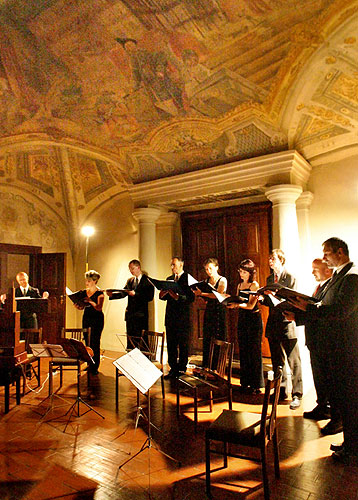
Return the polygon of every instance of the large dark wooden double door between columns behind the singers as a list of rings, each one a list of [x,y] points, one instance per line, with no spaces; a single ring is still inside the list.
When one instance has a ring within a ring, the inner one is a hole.
[[[196,279],[205,279],[203,262],[209,257],[219,261],[220,274],[228,280],[228,293],[236,295],[239,282],[238,265],[251,259],[257,265],[257,280],[264,285],[270,273],[271,203],[242,205],[218,210],[184,213],[181,216],[185,269]],[[193,306],[191,352],[202,350],[202,324],[205,306]],[[261,307],[264,324],[267,308]],[[237,346],[237,311],[227,311],[228,340]],[[262,352],[269,356],[268,343],[263,338]]]

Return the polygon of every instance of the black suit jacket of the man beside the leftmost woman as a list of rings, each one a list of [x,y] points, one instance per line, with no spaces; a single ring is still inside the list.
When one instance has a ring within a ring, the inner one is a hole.
[[[127,280],[124,289],[135,289],[134,276]],[[151,302],[154,297],[154,287],[149,282],[148,276],[142,274],[133,297],[131,295],[127,295],[126,292],[114,292],[109,300],[123,299],[124,297],[128,297],[128,304],[124,316],[126,321],[130,321],[132,318],[145,318],[148,320],[148,302]]]

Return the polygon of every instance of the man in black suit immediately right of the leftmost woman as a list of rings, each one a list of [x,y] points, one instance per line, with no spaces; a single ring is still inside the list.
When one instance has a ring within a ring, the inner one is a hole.
[[[127,347],[138,344],[142,330],[148,330],[148,303],[153,300],[154,287],[148,276],[142,273],[139,260],[133,259],[128,264],[132,278],[127,280],[120,292],[107,292],[109,300],[123,299],[128,296],[124,319],[127,330]]]

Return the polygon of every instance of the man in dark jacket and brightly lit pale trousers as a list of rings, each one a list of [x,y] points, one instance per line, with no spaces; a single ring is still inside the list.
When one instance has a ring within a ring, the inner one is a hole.
[[[285,254],[280,249],[272,250],[269,257],[269,266],[273,273],[267,278],[266,285],[278,283],[287,288],[296,288],[296,279],[288,273],[284,267]],[[291,410],[296,410],[301,405],[303,385],[300,351],[297,343],[295,325],[292,321],[286,320],[280,310],[275,309],[274,299],[266,295],[263,304],[270,309],[267,319],[265,335],[268,338],[272,368],[276,372],[279,366],[283,367],[283,375],[280,390],[280,399],[286,399],[287,394],[287,373],[285,370],[285,360],[291,370],[292,377],[292,401]]]

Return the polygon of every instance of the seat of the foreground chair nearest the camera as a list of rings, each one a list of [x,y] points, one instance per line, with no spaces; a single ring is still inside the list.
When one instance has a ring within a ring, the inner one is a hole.
[[[206,430],[209,439],[250,446],[260,436],[261,415],[246,411],[223,410]]]

